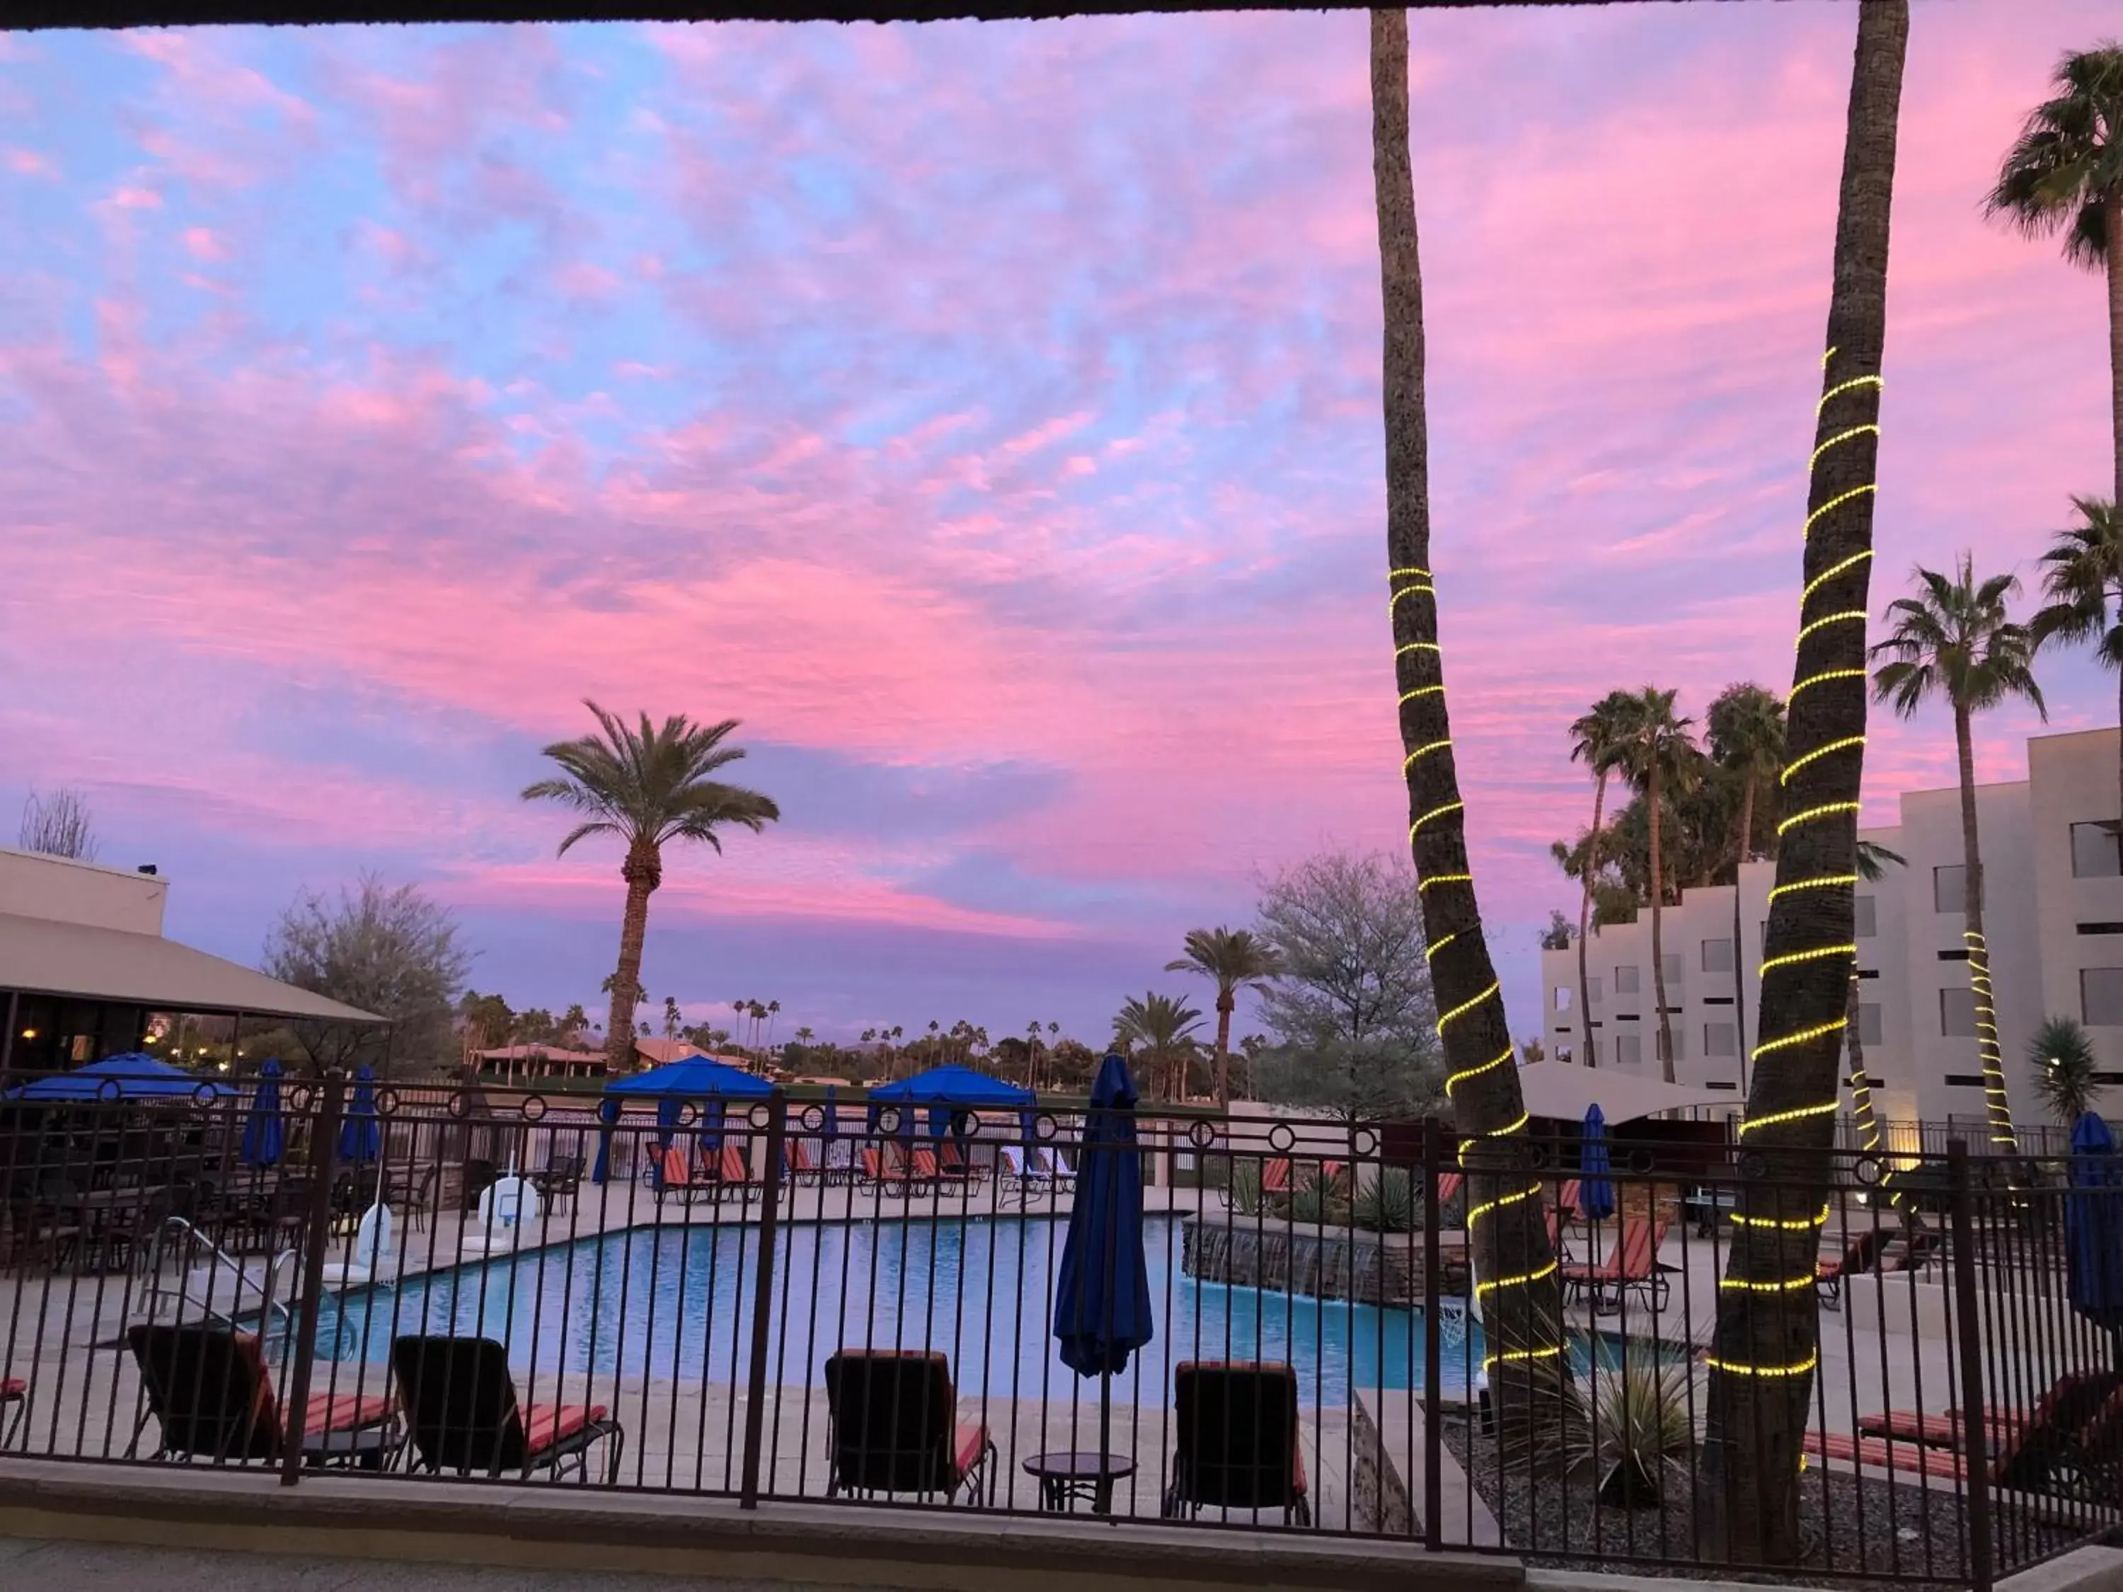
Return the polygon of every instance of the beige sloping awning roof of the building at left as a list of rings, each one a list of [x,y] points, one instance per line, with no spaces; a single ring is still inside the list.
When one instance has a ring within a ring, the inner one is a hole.
[[[130,934],[15,913],[0,913],[0,989],[117,1000],[166,1013],[255,1013],[325,1023],[391,1021],[159,934]]]

